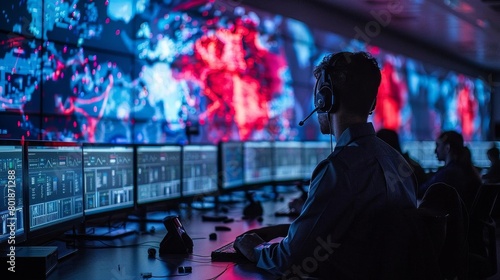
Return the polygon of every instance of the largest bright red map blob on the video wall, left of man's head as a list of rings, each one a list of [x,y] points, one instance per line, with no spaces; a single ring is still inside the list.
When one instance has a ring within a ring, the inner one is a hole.
[[[270,122],[269,101],[283,91],[280,73],[287,66],[283,55],[260,45],[256,24],[236,19],[229,28],[196,41],[194,60],[184,67],[180,78],[195,80],[209,102],[200,122],[217,135],[229,138],[236,126],[238,138],[248,140],[252,132]],[[225,139],[227,140],[227,139]]]

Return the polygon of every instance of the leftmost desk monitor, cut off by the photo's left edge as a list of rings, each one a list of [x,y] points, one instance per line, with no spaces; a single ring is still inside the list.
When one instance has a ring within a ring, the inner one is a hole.
[[[26,241],[21,141],[0,141],[0,185],[0,248],[6,248]]]

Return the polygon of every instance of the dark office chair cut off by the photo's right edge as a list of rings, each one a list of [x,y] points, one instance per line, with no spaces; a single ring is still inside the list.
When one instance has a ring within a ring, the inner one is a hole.
[[[491,213],[500,183],[485,183],[479,188],[470,211],[470,278],[484,278],[497,273],[496,223]]]

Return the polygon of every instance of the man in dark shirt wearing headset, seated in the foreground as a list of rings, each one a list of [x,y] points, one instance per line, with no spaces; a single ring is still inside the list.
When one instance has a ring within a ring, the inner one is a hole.
[[[399,216],[417,207],[416,180],[368,122],[381,81],[377,61],[366,52],[340,52],[324,57],[314,75],[313,112],[321,132],[335,136],[335,149],[313,171],[289,227],[247,232],[234,247],[282,279],[419,278],[411,270],[418,253],[409,252],[410,230],[401,230]],[[279,234],[280,242],[266,242]]]

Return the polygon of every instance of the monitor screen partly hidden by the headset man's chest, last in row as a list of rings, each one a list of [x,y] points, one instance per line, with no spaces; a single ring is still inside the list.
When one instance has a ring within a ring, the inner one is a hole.
[[[332,145],[326,141],[306,141],[303,143],[302,177],[309,180],[311,174],[322,160],[332,152]]]

